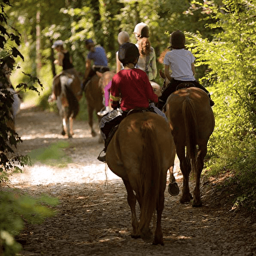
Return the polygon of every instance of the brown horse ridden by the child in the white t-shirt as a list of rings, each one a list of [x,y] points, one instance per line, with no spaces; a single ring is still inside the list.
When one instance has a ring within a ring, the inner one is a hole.
[[[209,97],[205,91],[195,87],[174,91],[167,99],[166,115],[183,174],[180,202],[185,203],[193,199],[193,206],[200,207],[200,174],[204,167],[208,140],[215,125]],[[191,168],[196,179],[193,197],[189,192]]]

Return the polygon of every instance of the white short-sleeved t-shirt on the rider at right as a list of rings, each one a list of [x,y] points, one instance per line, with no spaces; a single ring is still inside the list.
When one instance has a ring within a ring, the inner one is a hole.
[[[163,63],[169,65],[172,70],[170,75],[175,80],[195,81],[191,64],[194,63],[195,57],[189,50],[174,49],[165,54]]]

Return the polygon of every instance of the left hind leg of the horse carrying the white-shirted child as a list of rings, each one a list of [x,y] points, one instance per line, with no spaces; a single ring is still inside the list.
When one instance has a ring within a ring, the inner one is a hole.
[[[182,198],[180,202],[184,204],[185,202],[190,202],[193,198],[191,193],[189,192],[189,174],[191,172],[191,165],[185,157],[185,146],[176,146],[176,153],[180,159],[180,170],[182,170],[183,174],[183,188],[182,188]]]

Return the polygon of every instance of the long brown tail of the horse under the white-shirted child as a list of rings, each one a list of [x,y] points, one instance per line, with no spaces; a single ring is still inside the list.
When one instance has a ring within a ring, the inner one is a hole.
[[[185,123],[185,145],[187,164],[191,165],[194,175],[197,172],[197,142],[198,142],[198,123],[195,104],[191,99],[185,99],[182,106],[182,114]]]

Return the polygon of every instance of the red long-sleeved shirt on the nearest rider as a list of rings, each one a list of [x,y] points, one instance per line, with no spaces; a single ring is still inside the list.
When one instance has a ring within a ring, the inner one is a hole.
[[[148,80],[146,72],[140,69],[123,69],[112,78],[110,102],[115,108],[121,98],[121,110],[148,108],[149,100],[157,103],[158,97]]]

